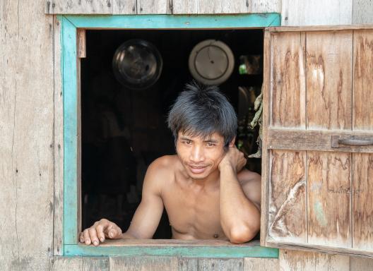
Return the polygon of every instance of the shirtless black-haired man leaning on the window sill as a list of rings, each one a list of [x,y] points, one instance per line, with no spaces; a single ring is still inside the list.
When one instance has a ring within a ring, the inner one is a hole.
[[[242,169],[235,147],[237,117],[216,87],[187,85],[168,116],[177,155],[150,164],[140,205],[122,233],[107,219],[95,222],[79,241],[98,246],[105,239],[151,239],[163,207],[173,239],[222,239],[244,243],[260,227],[261,176]]]

